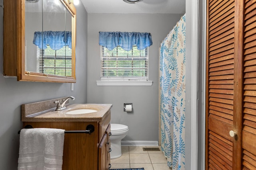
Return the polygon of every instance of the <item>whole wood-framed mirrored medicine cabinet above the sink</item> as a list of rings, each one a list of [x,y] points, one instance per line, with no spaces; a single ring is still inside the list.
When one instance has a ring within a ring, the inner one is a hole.
[[[4,0],[4,76],[76,82],[76,8],[68,0]]]

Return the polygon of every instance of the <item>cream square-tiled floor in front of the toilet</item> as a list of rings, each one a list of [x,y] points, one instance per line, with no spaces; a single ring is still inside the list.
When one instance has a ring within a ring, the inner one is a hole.
[[[111,159],[111,169],[144,168],[144,170],[170,170],[161,151],[143,151],[143,147],[122,147],[122,156]]]

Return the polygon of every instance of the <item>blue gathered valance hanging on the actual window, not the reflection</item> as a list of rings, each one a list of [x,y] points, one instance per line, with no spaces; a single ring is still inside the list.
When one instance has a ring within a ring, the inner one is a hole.
[[[122,49],[130,51],[132,45],[136,45],[138,50],[142,50],[153,43],[150,33],[100,32],[99,44],[109,50],[112,50],[119,45]]]

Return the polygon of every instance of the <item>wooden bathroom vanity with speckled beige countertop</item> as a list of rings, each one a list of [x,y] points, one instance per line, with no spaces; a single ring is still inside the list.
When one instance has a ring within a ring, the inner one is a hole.
[[[33,107],[36,106],[22,105],[24,127],[31,125],[33,128],[85,131],[88,125],[94,126],[94,131],[90,134],[65,133],[63,170],[108,170],[110,168],[110,109],[112,104],[72,104],[62,111],[55,111],[53,108],[38,113],[32,113]],[[66,114],[68,111],[79,109],[94,109],[96,112]]]

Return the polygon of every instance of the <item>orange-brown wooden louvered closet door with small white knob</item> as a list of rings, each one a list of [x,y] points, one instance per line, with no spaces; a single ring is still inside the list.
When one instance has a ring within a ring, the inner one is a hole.
[[[256,1],[208,0],[207,39],[206,169],[256,169]]]

